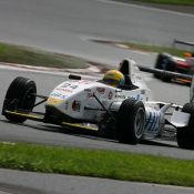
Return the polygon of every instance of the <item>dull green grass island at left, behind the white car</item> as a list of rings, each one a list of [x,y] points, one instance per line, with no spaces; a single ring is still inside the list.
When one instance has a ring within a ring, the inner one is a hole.
[[[0,43],[0,61],[34,67],[86,68],[84,60],[58,53],[44,52],[33,48]]]

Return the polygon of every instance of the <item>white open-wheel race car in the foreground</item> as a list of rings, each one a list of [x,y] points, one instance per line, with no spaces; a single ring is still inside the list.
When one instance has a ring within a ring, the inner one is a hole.
[[[130,65],[135,89],[124,84],[114,88],[102,80],[82,80],[79,75],[70,75],[49,96],[42,96],[37,94],[34,81],[18,76],[7,91],[2,114],[18,123],[30,119],[64,127],[95,130],[129,144],[159,137],[165,126],[171,125],[178,146],[194,149],[194,84],[191,86],[191,102],[183,106],[156,102],[135,62],[131,60]],[[145,68],[147,70],[156,71]],[[43,100],[37,102],[38,98]],[[34,114],[32,109],[43,102],[45,112]]]

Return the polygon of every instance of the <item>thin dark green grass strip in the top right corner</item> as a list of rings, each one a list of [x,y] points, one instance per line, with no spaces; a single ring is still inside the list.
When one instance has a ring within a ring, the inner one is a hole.
[[[157,4],[194,6],[194,0],[121,0],[121,1],[125,2],[134,1],[136,3],[144,2],[144,3],[157,3]]]

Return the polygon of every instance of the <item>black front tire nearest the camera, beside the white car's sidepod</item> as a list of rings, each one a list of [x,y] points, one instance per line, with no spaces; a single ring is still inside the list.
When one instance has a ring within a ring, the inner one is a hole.
[[[118,140],[122,143],[137,144],[143,136],[145,108],[135,99],[124,100],[118,114]]]

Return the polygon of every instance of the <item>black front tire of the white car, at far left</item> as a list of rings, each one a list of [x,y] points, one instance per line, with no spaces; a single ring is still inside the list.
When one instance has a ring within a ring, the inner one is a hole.
[[[10,121],[19,123],[24,122],[27,120],[25,118],[7,114],[6,110],[22,110],[27,113],[31,112],[35,103],[34,94],[37,94],[37,85],[34,81],[22,76],[16,78],[7,91],[2,114]]]

